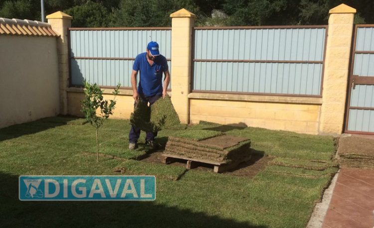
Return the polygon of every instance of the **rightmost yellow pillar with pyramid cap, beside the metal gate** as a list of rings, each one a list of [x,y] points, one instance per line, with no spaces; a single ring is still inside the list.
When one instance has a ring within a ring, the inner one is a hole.
[[[356,9],[340,4],[329,13],[319,131],[320,134],[341,134]]]

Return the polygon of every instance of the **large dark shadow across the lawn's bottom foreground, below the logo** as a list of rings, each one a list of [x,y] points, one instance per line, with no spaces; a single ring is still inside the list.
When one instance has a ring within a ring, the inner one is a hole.
[[[266,228],[159,205],[157,200],[154,202],[24,202],[18,200],[18,176],[0,173],[0,184],[1,227]]]

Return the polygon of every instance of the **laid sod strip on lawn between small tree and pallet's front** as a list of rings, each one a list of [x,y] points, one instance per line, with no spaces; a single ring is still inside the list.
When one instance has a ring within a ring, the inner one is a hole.
[[[186,172],[186,168],[128,160],[115,167],[113,171],[119,172],[122,175],[151,175],[156,176],[157,179],[176,181]]]

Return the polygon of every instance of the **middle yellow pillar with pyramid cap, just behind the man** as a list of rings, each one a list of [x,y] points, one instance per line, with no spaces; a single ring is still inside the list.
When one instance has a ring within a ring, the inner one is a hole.
[[[172,102],[182,123],[189,123],[192,28],[195,15],[186,9],[172,14]]]

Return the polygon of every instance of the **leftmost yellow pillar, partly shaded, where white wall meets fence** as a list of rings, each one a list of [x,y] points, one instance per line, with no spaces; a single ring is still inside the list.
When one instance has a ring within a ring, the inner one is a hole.
[[[68,114],[67,88],[69,87],[69,46],[68,30],[72,16],[61,11],[46,16],[52,29],[60,36],[57,38],[58,75],[60,92],[60,114]]]

